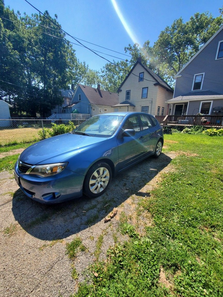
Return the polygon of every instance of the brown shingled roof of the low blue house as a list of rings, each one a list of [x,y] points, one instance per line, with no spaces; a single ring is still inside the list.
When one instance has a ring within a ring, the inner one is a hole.
[[[75,96],[78,87],[81,88],[81,90],[84,92],[85,96],[91,104],[113,106],[118,103],[119,95],[117,93],[98,90],[97,88],[84,86],[80,83],[78,83],[73,97]]]

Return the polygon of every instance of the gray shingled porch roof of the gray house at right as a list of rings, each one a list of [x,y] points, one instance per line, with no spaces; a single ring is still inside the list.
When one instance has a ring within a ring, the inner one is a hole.
[[[213,99],[223,99],[223,94],[214,91],[191,91],[184,95],[167,100],[167,103],[178,103],[183,101],[193,101],[193,100],[213,100]]]

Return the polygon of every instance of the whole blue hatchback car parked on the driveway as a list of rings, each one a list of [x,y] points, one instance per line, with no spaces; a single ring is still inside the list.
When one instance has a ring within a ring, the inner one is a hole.
[[[40,203],[98,197],[112,176],[150,155],[159,157],[163,129],[147,113],[93,116],[70,133],[41,140],[15,163],[21,190]]]

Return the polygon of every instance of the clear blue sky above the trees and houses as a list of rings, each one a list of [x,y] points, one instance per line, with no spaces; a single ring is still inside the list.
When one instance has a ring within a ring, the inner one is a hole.
[[[122,14],[128,32],[123,26],[112,1],[116,1],[119,12]],[[24,0],[4,0],[16,12],[26,12],[31,15],[36,10]],[[138,41],[141,45],[150,40],[150,45],[157,40],[160,31],[170,26],[177,18],[184,21],[196,12],[209,11],[214,17],[219,15],[222,1],[216,0],[183,0],[183,1],[150,1],[150,0],[29,0],[40,11],[48,10],[51,16],[58,15],[58,22],[62,28],[74,37],[101,45],[120,53],[129,43]],[[50,33],[50,32],[49,32]],[[129,35],[130,34],[130,35]],[[132,37],[132,38],[131,38]],[[75,42],[68,37],[68,40]],[[82,41],[81,41],[82,42]],[[76,43],[76,42],[75,42]],[[95,45],[83,42],[91,49],[99,50],[118,58],[126,57]],[[76,56],[80,61],[85,61],[90,68],[100,70],[106,61],[97,57],[85,48],[74,45]],[[108,60],[114,59],[103,54]]]

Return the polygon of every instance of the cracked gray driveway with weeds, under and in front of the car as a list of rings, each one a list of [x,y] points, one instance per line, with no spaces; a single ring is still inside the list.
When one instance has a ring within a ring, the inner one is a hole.
[[[0,296],[70,296],[78,282],[71,277],[71,262],[66,255],[66,242],[80,236],[87,251],[79,252],[75,262],[78,281],[95,261],[98,237],[103,234],[99,259],[106,257],[118,233],[122,211],[134,220],[140,197],[145,197],[163,172],[172,169],[175,153],[148,158],[113,178],[106,193],[96,199],[81,197],[54,206],[41,205],[18,188],[13,174],[0,173]],[[117,207],[110,222],[104,218]],[[149,218],[142,214],[143,222]],[[134,222],[133,222],[134,223]],[[140,230],[139,230],[140,231]],[[115,236],[114,236],[115,234]]]

